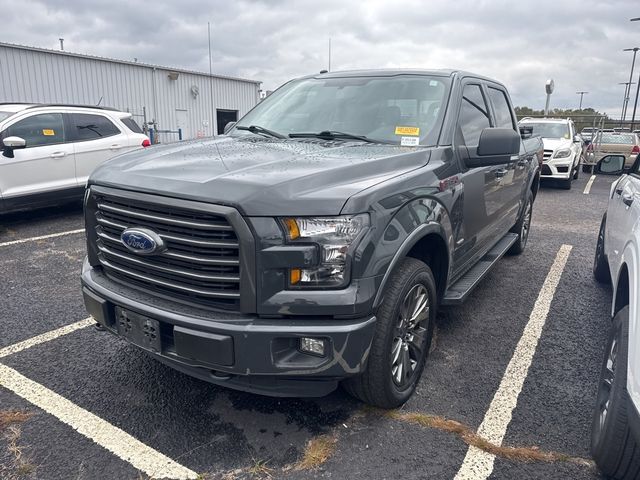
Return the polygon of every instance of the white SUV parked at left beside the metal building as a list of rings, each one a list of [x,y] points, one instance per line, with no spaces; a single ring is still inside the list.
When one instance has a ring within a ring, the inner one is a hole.
[[[149,145],[130,113],[0,104],[0,213],[82,198],[99,164]]]

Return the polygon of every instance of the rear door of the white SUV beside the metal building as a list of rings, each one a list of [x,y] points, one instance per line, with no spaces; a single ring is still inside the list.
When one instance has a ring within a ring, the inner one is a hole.
[[[129,149],[129,138],[105,114],[73,112],[66,116],[74,141],[76,181],[83,186],[98,165]]]

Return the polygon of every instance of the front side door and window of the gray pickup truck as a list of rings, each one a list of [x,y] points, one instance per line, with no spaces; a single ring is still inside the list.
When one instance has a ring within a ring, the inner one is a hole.
[[[485,128],[494,126],[486,94],[481,82],[469,80],[463,84],[462,103],[454,139],[455,150],[464,172],[464,228],[456,239],[454,252],[455,273],[484,255],[499,239],[501,217],[508,201],[508,173],[506,164],[467,168],[465,159],[475,155],[480,134]],[[504,234],[504,232],[502,232]]]

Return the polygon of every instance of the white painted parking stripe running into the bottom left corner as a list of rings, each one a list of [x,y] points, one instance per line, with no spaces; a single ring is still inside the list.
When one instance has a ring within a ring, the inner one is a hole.
[[[0,385],[24,398],[81,435],[130,463],[151,478],[197,479],[198,474],[145,445],[125,431],[0,364]]]

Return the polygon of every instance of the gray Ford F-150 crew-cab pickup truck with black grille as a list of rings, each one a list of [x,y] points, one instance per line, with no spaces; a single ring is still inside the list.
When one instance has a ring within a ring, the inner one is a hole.
[[[91,175],[88,311],[213,383],[402,404],[437,307],[525,248],[540,139],[459,71],[300,78],[227,130]]]

